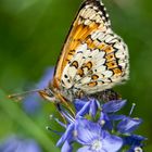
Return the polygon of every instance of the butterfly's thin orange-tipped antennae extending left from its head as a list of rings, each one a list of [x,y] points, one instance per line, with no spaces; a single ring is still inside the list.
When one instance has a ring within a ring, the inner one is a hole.
[[[31,94],[31,93],[36,93],[36,92],[39,92],[41,91],[40,89],[36,89],[36,90],[30,90],[30,91],[24,91],[24,92],[21,92],[21,93],[14,93],[14,94],[9,94],[8,97],[10,99],[13,99],[15,101],[21,101],[23,100],[23,98],[27,94]]]

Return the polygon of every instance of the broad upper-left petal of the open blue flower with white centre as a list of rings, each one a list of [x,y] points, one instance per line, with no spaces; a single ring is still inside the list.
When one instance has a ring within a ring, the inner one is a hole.
[[[77,132],[76,139],[81,144],[90,144],[94,139],[99,139],[101,135],[101,126],[85,118],[76,121],[75,130]]]

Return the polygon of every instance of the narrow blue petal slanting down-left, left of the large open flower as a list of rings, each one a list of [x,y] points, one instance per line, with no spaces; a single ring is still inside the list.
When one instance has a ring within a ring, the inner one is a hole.
[[[74,124],[69,124],[66,131],[63,134],[63,136],[59,139],[56,147],[60,147],[65,140],[68,138],[71,140],[73,138],[73,130],[74,130]]]

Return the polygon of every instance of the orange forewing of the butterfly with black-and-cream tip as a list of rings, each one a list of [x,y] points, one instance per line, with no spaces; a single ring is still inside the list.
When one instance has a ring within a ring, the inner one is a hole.
[[[91,34],[91,31],[96,31],[99,26],[102,27],[103,30],[106,30],[105,26],[110,26],[110,21],[102,15],[103,11],[101,11],[99,7],[101,7],[100,2],[94,0],[87,0],[81,4],[59,58],[55,69],[55,77],[58,79],[61,80],[65,65],[75,54],[76,48]],[[102,10],[104,10],[104,7],[102,7]]]

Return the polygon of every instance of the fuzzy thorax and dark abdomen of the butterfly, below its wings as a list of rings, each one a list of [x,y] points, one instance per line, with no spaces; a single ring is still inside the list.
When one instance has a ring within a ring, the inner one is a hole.
[[[75,99],[81,99],[81,98],[97,98],[99,101],[107,102],[110,100],[118,100],[121,99],[121,96],[115,92],[112,89],[105,89],[101,92],[97,92],[93,94],[87,94],[87,92],[84,92],[83,90],[75,88],[73,86],[69,89],[59,89],[52,86],[53,84],[50,84],[50,88],[47,88],[45,91],[48,96],[49,100],[54,100],[54,103],[64,103],[64,102],[74,102]]]

